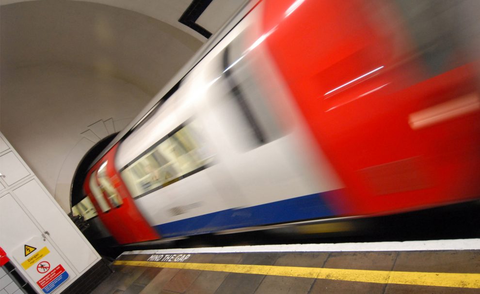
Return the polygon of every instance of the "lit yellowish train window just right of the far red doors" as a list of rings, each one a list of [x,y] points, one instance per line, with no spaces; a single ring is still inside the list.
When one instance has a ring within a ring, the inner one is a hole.
[[[181,125],[121,171],[133,197],[181,180],[211,162],[194,123]]]

